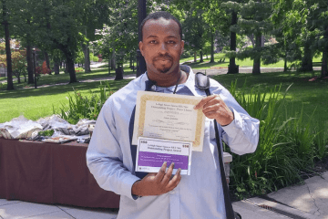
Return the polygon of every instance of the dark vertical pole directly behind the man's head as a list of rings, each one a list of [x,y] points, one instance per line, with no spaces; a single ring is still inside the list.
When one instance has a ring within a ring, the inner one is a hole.
[[[140,25],[147,16],[146,0],[138,0],[138,42],[142,41]],[[140,50],[137,50],[137,77],[145,73],[146,62],[145,58],[141,55]]]

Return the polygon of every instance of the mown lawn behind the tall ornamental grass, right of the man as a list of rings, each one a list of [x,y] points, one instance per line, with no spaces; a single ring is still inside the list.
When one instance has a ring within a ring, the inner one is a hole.
[[[323,120],[326,127],[328,127],[328,80],[308,81],[313,76],[319,77],[320,74],[319,71],[314,73],[277,72],[265,73],[259,76],[251,74],[220,75],[213,78],[227,89],[231,87],[231,81],[235,79],[238,79],[238,88],[241,88],[246,79],[246,89],[249,91],[251,91],[251,88],[256,87],[272,89],[274,86],[280,86],[281,84],[281,90],[285,91],[292,84],[286,96],[288,102],[285,110],[288,111],[288,116],[293,117],[303,107],[304,122],[306,122],[315,110],[313,122]]]

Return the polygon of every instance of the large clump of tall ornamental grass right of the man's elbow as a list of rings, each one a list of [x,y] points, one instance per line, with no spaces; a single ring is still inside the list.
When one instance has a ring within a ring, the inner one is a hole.
[[[290,117],[294,110],[287,108],[285,97],[292,85],[281,95],[281,87],[264,92],[252,88],[246,93],[245,86],[237,91],[236,84],[237,80],[231,83],[231,94],[251,117],[260,120],[260,139],[254,153],[231,153],[233,193],[242,199],[302,182],[304,173],[313,172],[316,159],[327,156],[324,123],[315,126],[312,118],[303,123],[302,109]]]

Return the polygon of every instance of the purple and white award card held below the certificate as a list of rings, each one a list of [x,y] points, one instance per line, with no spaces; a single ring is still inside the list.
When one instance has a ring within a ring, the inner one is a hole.
[[[190,175],[192,142],[138,137],[136,172],[159,172],[163,162],[174,162],[173,174]]]

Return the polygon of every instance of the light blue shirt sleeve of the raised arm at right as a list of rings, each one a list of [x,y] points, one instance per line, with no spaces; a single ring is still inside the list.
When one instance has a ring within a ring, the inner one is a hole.
[[[213,93],[220,94],[220,98],[233,112],[234,119],[227,126],[222,126],[220,136],[229,145],[231,151],[242,155],[254,152],[259,142],[260,121],[252,118],[242,109],[231,93],[222,87]]]

